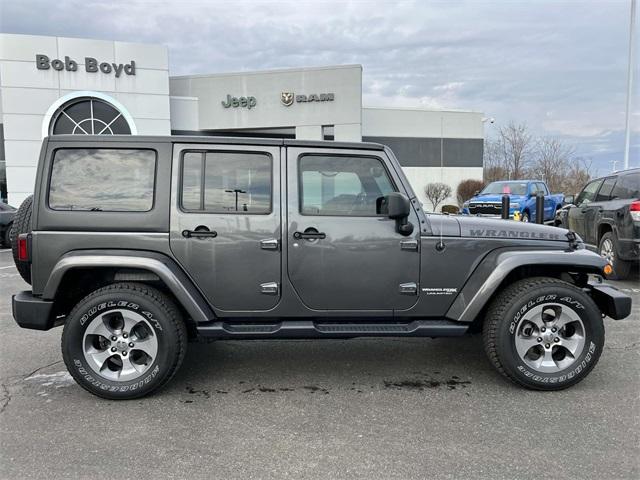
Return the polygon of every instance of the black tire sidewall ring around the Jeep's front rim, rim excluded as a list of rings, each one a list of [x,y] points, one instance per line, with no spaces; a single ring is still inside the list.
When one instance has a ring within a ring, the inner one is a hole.
[[[580,356],[569,367],[554,373],[543,373],[529,367],[516,350],[515,338],[520,322],[528,311],[545,303],[557,303],[572,308],[582,320],[585,344]],[[498,353],[505,370],[520,382],[538,389],[568,387],[584,378],[595,366],[604,345],[604,324],[598,307],[583,292],[554,285],[527,293],[513,302],[506,313],[498,335]]]

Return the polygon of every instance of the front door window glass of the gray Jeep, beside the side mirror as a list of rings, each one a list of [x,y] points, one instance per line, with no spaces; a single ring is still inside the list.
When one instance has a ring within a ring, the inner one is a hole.
[[[378,158],[306,155],[299,171],[303,215],[375,216],[376,200],[396,191]]]

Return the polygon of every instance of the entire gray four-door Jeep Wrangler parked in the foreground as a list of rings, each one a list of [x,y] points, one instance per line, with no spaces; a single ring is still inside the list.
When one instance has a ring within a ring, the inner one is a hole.
[[[55,136],[16,215],[23,328],[63,325],[82,387],[146,395],[191,339],[460,336],[524,387],[582,380],[631,299],[556,227],[426,213],[391,150]]]

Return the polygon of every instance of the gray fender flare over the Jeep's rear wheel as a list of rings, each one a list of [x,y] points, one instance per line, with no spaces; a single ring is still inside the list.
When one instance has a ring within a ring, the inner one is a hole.
[[[86,268],[135,268],[151,272],[160,278],[178,303],[196,322],[215,318],[213,310],[191,279],[166,255],[135,250],[81,250],[63,255],[55,264],[44,287],[42,298],[53,300],[64,275]]]

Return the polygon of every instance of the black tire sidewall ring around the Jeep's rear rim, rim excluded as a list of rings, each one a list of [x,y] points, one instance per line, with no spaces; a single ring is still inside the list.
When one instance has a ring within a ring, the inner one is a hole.
[[[156,358],[144,375],[125,382],[102,377],[84,358],[83,339],[89,324],[113,310],[129,310],[145,317],[158,341]],[[62,353],[69,372],[87,390],[108,398],[137,398],[157,388],[171,374],[179,351],[172,329],[166,312],[145,296],[110,291],[85,299],[74,309],[64,326]]]

